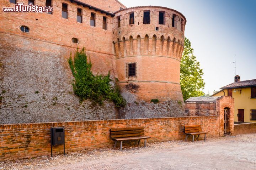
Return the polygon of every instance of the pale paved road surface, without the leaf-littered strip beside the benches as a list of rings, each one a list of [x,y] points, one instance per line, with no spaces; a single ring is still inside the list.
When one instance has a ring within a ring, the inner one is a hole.
[[[158,151],[111,156],[104,159],[57,165],[42,170],[255,170],[256,141],[228,140],[208,141],[189,146],[161,148]]]

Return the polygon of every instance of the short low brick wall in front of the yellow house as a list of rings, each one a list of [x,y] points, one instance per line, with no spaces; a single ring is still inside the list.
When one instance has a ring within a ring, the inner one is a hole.
[[[256,123],[234,124],[234,135],[256,133]]]

